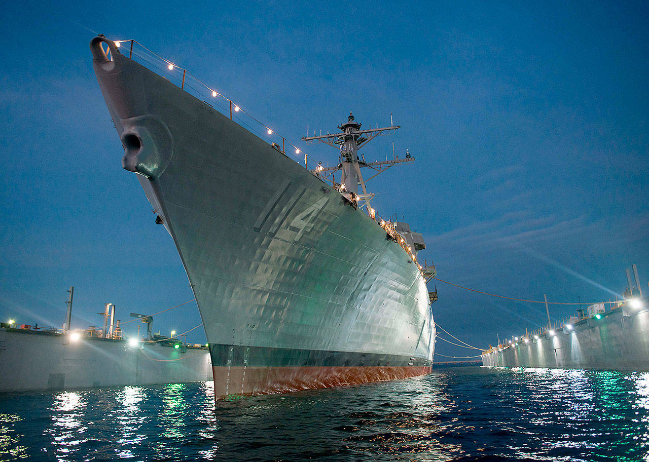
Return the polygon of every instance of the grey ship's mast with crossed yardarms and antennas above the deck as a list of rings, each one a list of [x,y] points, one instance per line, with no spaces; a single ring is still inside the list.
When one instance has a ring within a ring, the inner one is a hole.
[[[323,179],[326,179],[327,176],[331,176],[330,181],[332,184],[338,186],[334,180],[334,174],[336,171],[341,170],[339,188],[342,191],[350,193],[352,197],[364,199],[365,204],[369,206],[369,201],[374,197],[374,194],[367,192],[365,184],[374,178],[374,176],[377,176],[389,169],[389,167],[402,162],[412,162],[415,159],[410,156],[410,153],[408,153],[404,159],[395,157],[392,160],[365,162],[365,156],[362,154],[359,156],[358,153],[361,147],[367,145],[369,141],[373,140],[377,136],[392,134],[394,130],[401,127],[398,125],[391,125],[390,127],[376,127],[361,130],[361,125],[361,123],[355,121],[354,115],[350,112],[349,117],[347,118],[347,123],[338,126],[338,129],[340,130],[339,133],[321,136],[305,136],[302,138],[302,141],[305,141],[306,144],[324,143],[332,147],[339,147],[339,164],[336,165],[336,167],[325,168],[322,165],[318,165],[315,169],[312,169],[311,172]],[[363,175],[360,170],[363,167],[373,169],[376,173],[367,178],[367,180],[363,180]],[[361,193],[358,191],[359,186],[362,191]]]

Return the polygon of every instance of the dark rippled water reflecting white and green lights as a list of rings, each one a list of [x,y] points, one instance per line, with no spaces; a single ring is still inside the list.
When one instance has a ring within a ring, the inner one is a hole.
[[[234,402],[212,383],[0,395],[0,459],[649,460],[649,374],[435,369]]]

